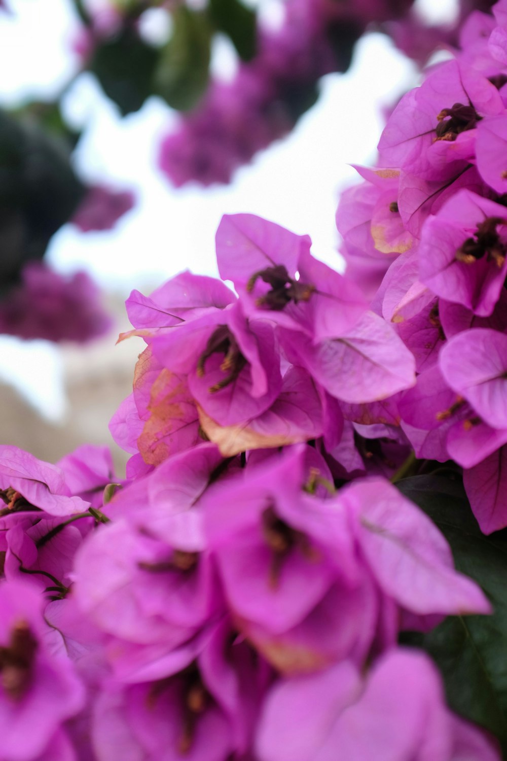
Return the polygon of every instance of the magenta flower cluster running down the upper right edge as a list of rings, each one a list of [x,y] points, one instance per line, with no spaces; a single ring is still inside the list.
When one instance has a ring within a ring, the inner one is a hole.
[[[417,457],[455,460],[484,533],[507,526],[507,5],[392,113],[379,168],[344,194],[348,276],[414,355],[391,400]]]

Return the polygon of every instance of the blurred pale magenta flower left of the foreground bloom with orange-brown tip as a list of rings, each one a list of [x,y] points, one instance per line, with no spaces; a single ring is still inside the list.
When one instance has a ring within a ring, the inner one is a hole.
[[[187,524],[195,526],[192,514]],[[121,518],[97,530],[74,564],[81,613],[107,637],[106,655],[128,681],[165,676],[175,648],[194,637],[216,607],[214,574],[202,537],[167,543]],[[141,674],[141,676],[139,676]],[[148,676],[150,674],[150,676]]]

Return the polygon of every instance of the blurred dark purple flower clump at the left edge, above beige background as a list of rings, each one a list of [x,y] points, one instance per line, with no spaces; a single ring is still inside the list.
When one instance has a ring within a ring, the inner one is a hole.
[[[0,302],[0,333],[23,339],[81,343],[110,326],[100,291],[85,272],[65,277],[42,263],[27,264],[21,284]]]

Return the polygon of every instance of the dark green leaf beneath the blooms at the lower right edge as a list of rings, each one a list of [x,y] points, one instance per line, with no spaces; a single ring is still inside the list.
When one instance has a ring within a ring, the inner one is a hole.
[[[485,537],[461,482],[414,476],[397,483],[436,523],[451,545],[459,571],[474,578],[493,604],[492,616],[450,616],[415,635],[438,664],[449,705],[496,734],[507,751],[507,533]]]

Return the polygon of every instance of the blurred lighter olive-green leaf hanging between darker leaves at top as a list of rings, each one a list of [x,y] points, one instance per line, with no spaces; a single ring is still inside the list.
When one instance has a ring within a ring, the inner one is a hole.
[[[208,86],[212,29],[208,16],[180,5],[173,13],[173,34],[162,49],[154,91],[170,106],[186,111]]]

